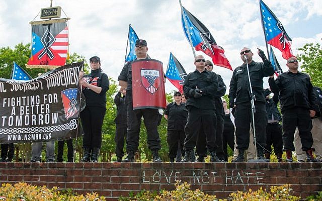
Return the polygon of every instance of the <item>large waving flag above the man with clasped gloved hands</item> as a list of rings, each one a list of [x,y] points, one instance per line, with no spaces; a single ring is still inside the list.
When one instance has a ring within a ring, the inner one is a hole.
[[[231,65],[224,54],[222,47],[217,45],[209,30],[189,11],[182,7],[183,14],[181,17],[183,30],[186,38],[189,40],[189,33],[193,47],[196,51],[202,51],[211,57],[212,62],[224,68],[232,70]],[[187,25],[186,25],[187,22]],[[189,29],[189,32],[187,30]]]

